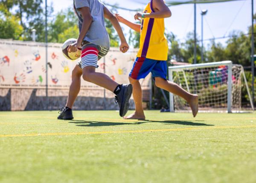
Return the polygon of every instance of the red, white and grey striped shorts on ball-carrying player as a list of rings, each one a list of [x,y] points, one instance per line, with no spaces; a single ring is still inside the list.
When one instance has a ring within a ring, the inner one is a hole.
[[[77,63],[77,65],[83,69],[86,66],[93,66],[98,68],[97,65],[98,60],[102,57],[105,57],[108,54],[109,49],[104,46],[98,46],[88,41],[84,41],[82,43],[82,53],[81,60]]]

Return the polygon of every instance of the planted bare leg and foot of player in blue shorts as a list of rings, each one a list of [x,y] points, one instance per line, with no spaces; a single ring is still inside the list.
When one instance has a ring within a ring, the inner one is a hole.
[[[144,120],[145,115],[144,115],[143,106],[142,106],[142,89],[140,86],[140,82],[138,80],[132,79],[131,77],[129,77],[129,80],[133,86],[132,96],[134,98],[134,103],[135,103],[135,112],[123,118]]]

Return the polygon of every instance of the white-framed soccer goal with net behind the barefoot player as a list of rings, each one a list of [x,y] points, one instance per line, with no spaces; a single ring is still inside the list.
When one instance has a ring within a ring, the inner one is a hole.
[[[201,112],[241,112],[241,89],[246,87],[253,108],[244,68],[232,61],[170,66],[169,80],[198,94]],[[190,110],[183,98],[170,93],[170,111]]]

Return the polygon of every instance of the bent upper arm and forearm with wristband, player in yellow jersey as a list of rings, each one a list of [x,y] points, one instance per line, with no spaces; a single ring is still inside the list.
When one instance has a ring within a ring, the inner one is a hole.
[[[141,18],[167,18],[172,16],[172,12],[163,2],[163,0],[153,0],[153,8],[157,9],[154,13],[141,13],[137,12],[134,16],[135,20],[140,20]]]

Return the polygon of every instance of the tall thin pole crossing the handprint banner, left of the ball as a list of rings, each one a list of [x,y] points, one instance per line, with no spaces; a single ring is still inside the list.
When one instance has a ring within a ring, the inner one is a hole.
[[[49,98],[48,98],[48,32],[47,32],[47,0],[45,0],[45,68],[46,68],[46,109],[48,110]]]

